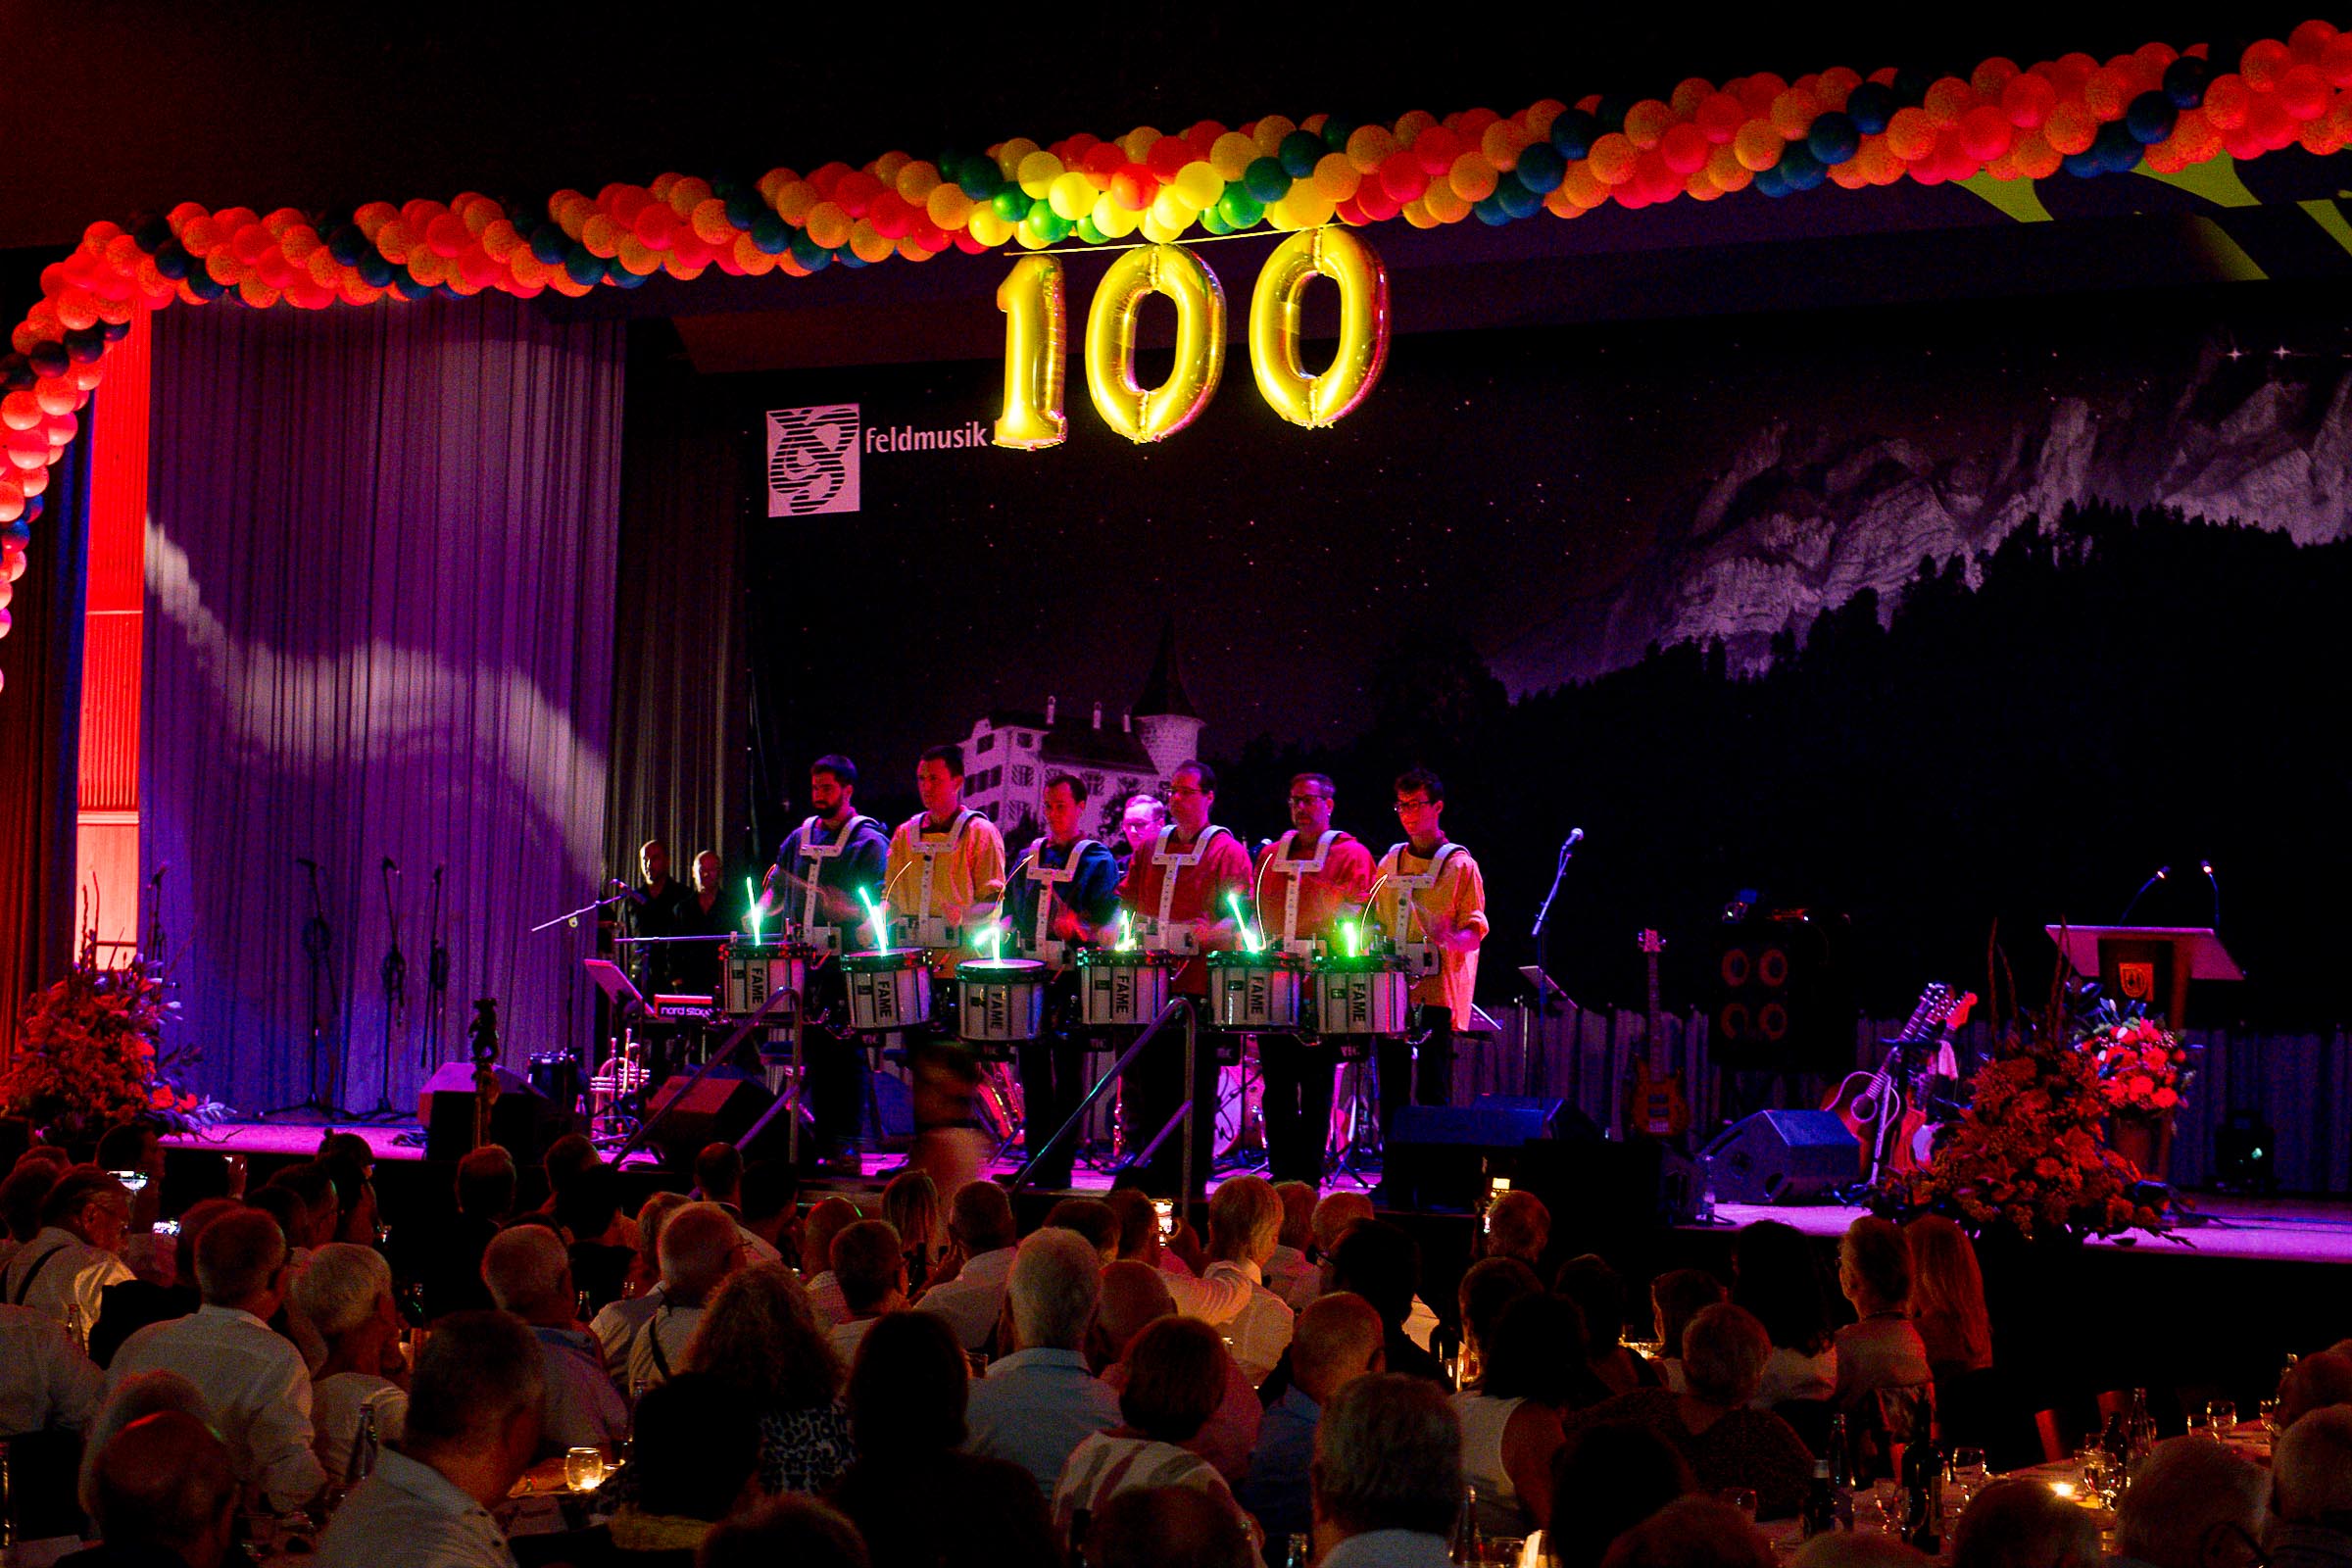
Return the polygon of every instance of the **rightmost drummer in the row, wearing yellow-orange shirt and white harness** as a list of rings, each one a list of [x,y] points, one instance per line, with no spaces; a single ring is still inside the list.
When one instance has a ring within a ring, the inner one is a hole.
[[[1477,947],[1486,940],[1486,882],[1470,851],[1446,839],[1444,811],[1446,788],[1437,773],[1411,769],[1397,776],[1397,825],[1404,827],[1404,842],[1381,856],[1371,919],[1399,952],[1425,945],[1435,966],[1414,983],[1418,1074],[1406,1077],[1414,1056],[1409,1039],[1381,1039],[1383,1145],[1409,1103],[1446,1103],[1454,1032],[1470,1027]]]

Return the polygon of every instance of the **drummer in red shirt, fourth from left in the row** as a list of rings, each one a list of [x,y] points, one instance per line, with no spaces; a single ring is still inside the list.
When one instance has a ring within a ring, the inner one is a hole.
[[[1120,903],[1143,933],[1143,947],[1183,954],[1169,978],[1169,990],[1192,997],[1207,1011],[1209,966],[1204,952],[1228,952],[1240,945],[1237,900],[1249,898],[1249,851],[1232,832],[1214,825],[1216,773],[1207,762],[1178,762],[1169,783],[1169,825],[1136,851],[1120,879]],[[1131,1112],[1129,1147],[1143,1147],[1183,1105],[1183,1039],[1169,1030],[1129,1070],[1124,1105]],[[1195,1053],[1192,1074],[1192,1182],[1209,1175],[1209,1135],[1214,1131],[1216,1051],[1207,1041]],[[1176,1197],[1183,1185],[1183,1147],[1171,1135],[1145,1168],[1145,1187],[1155,1197]]]

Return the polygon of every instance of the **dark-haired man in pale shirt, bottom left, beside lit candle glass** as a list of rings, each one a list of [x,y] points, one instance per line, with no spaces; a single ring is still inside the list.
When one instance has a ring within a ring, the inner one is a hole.
[[[513,1568],[489,1509],[539,1453],[543,1392],[539,1340],[517,1319],[437,1321],[416,1354],[407,1432],[336,1509],[318,1566]]]

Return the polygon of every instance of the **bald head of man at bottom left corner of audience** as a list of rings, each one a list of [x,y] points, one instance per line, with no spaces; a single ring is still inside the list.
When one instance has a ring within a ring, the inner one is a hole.
[[[141,1415],[92,1467],[99,1544],[71,1568],[219,1568],[238,1514],[238,1472],[205,1422]]]

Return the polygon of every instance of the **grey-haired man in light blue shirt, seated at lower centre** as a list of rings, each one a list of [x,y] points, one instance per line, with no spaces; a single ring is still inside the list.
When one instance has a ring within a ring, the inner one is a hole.
[[[964,1410],[964,1446],[1025,1469],[1040,1500],[1054,1493],[1080,1441],[1120,1425],[1120,1396],[1082,1352],[1101,1274],[1101,1255],[1077,1232],[1047,1227],[1028,1237],[1004,1281],[1014,1352],[988,1363]]]

